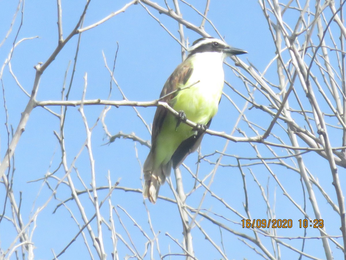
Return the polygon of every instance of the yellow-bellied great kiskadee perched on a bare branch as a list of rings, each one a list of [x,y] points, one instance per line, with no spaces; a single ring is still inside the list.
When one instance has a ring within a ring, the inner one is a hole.
[[[224,87],[224,59],[247,53],[212,37],[198,39],[188,51],[188,57],[167,79],[160,95],[164,97],[161,101],[179,112],[181,119],[163,106],[157,107],[154,116],[152,147],[143,165],[143,196],[152,203],[156,202],[160,185],[170,176],[172,166],[179,167],[201,144],[204,131],[181,121],[187,118],[202,129],[210,126]]]

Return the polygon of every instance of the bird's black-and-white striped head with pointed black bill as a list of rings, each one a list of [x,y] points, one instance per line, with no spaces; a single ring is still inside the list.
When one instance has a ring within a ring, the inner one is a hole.
[[[204,37],[194,41],[188,51],[189,56],[202,52],[222,52],[225,56],[247,53],[247,51],[230,47],[223,41],[213,37]]]

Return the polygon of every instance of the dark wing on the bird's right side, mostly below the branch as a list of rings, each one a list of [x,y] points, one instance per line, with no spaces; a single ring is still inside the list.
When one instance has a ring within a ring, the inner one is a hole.
[[[207,123],[207,128],[210,127],[210,123],[211,119]],[[178,168],[189,154],[197,150],[197,148],[201,144],[203,136],[204,132],[193,135],[188,139],[182,141],[182,143],[178,146],[178,148],[172,155],[172,166],[174,169]]]

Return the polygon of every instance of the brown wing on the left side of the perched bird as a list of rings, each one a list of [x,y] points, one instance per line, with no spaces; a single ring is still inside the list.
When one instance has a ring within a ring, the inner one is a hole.
[[[167,79],[161,91],[160,97],[163,97],[173,92],[177,89],[178,86],[185,85],[188,79],[190,78],[192,71],[193,68],[191,68],[191,63],[189,59],[186,59],[183,63],[176,67],[172,75]],[[168,104],[173,106],[174,104],[172,104],[172,99],[175,97],[176,94],[177,93],[169,95],[162,99],[162,101],[167,102]],[[156,109],[152,130],[152,148],[154,149],[156,145],[156,137],[161,130],[162,123],[166,117],[167,112],[168,111],[162,106],[158,106]]]

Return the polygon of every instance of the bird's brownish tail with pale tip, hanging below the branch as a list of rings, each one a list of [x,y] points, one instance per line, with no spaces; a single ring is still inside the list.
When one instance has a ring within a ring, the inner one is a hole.
[[[171,174],[172,161],[170,160],[165,165],[155,166],[155,156],[150,150],[147,159],[143,165],[144,184],[143,184],[143,197],[148,198],[150,202],[155,204],[158,196],[160,186],[166,181],[166,177]]]

